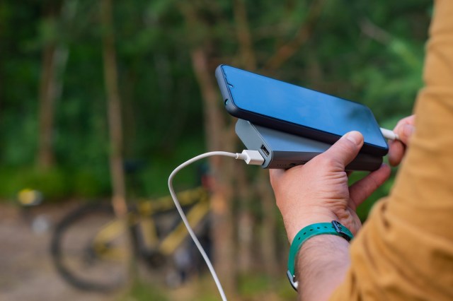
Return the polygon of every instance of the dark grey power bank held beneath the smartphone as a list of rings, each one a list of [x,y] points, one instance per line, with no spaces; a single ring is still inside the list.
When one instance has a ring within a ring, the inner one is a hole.
[[[265,159],[261,165],[263,168],[287,169],[302,165],[331,146],[328,143],[258,126],[243,119],[236,122],[236,134],[246,148],[259,151],[263,155]],[[360,153],[346,170],[372,171],[381,165],[382,157]]]

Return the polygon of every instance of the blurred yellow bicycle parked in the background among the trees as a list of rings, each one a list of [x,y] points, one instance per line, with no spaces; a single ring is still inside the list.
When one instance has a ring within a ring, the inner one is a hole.
[[[201,241],[209,244],[207,190],[198,187],[182,191],[178,199]],[[193,242],[186,240],[188,232],[170,196],[138,200],[127,220],[132,248],[111,206],[89,203],[69,213],[52,237],[57,271],[76,288],[108,292],[127,282],[127,252],[131,249],[137,261],[158,271],[169,284],[182,281],[197,263],[202,266]]]

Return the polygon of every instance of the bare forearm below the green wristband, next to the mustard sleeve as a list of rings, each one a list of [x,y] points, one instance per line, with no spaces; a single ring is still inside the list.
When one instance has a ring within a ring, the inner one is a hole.
[[[336,235],[318,235],[302,244],[297,256],[299,300],[328,300],[350,266],[349,242]]]

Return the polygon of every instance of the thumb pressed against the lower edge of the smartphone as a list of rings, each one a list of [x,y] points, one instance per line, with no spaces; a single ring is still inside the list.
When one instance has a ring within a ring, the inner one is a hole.
[[[363,136],[358,131],[350,131],[341,137],[331,148],[325,151],[323,158],[330,158],[340,164],[342,169],[352,162],[363,146]]]

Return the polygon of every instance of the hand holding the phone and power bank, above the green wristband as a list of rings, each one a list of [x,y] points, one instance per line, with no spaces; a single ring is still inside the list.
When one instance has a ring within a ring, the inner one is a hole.
[[[362,134],[351,131],[305,165],[270,170],[270,183],[289,242],[306,225],[332,220],[357,233],[362,224],[355,209],[390,175],[389,166],[382,165],[348,187],[345,166],[357,156],[362,145]]]

